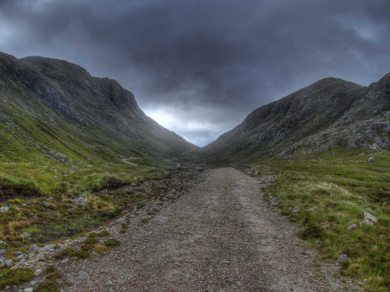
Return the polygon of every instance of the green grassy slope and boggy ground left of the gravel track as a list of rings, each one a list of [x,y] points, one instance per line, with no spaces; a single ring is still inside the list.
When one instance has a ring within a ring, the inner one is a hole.
[[[24,231],[34,231],[34,224],[47,220],[83,212],[112,212],[138,201],[131,193],[107,198],[97,191],[108,189],[110,194],[110,189],[155,178],[167,157],[141,148],[137,141],[109,135],[67,123],[20,87],[1,93],[0,206],[9,206],[9,210],[0,213],[0,239],[16,240]],[[151,139],[147,133],[146,139]],[[122,157],[139,157],[134,161],[138,165],[125,164]],[[69,199],[80,195],[87,199],[86,206],[73,206]],[[41,201],[51,203],[50,208],[44,208]],[[24,245],[17,240],[15,244]]]

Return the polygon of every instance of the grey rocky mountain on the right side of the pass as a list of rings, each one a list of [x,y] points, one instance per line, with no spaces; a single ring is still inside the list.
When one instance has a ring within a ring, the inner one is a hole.
[[[244,156],[294,158],[335,147],[390,147],[390,73],[370,86],[321,79],[255,109],[200,153],[229,163]]]

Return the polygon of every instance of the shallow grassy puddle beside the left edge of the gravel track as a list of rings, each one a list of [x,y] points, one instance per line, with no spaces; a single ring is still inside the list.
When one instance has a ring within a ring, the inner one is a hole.
[[[31,241],[46,243],[59,238],[72,237],[85,228],[96,228],[117,217],[121,210],[105,213],[80,214],[74,217],[51,220],[22,229],[31,235]]]

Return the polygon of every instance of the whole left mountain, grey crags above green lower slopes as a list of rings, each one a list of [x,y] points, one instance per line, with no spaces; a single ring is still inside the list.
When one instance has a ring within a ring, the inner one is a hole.
[[[59,59],[2,52],[0,139],[0,162],[54,164],[64,172],[79,168],[74,161],[136,156],[154,164],[196,147],[145,115],[115,80]]]

